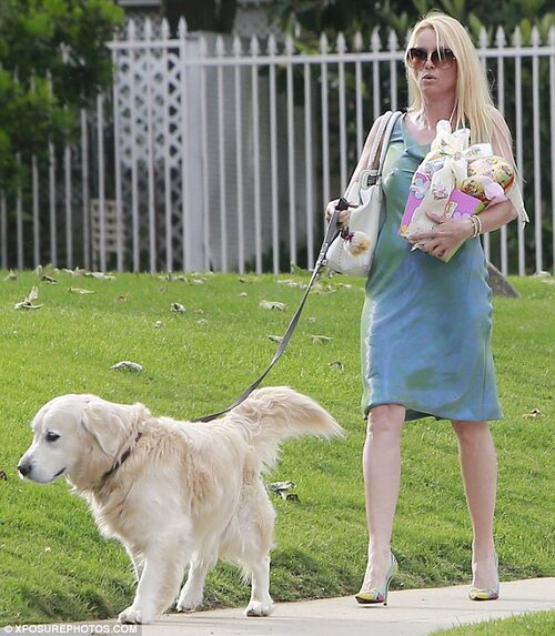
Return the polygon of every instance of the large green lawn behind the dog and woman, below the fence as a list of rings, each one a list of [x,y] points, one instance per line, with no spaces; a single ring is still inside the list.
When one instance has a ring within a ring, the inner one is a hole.
[[[114,616],[133,595],[128,557],[103,539],[85,504],[65,483],[38,486],[16,475],[31,441],[30,421],[51,397],[97,393],[144,402],[157,415],[188,418],[230,404],[265,369],[302,290],[294,277],[236,274],[113,281],[34,272],[4,281],[0,272],[0,625]],[[203,281],[196,284],[194,281]],[[505,420],[493,424],[498,451],[497,549],[503,579],[553,576],[554,291],[538,279],[514,279],[522,299],[495,301],[494,355]],[[547,281],[553,282],[553,279]],[[349,283],[350,286],[346,286]],[[38,285],[37,311],[16,311]],[[94,294],[78,295],[69,287]],[[246,294],[246,295],[244,295]],[[259,309],[262,300],[285,312]],[[351,594],[364,569],[366,529],[361,471],[365,425],[359,404],[359,317],[363,281],[321,279],[297,331],[265,384],[287,384],[319,400],[346,428],[345,441],[301,440],[283,447],[271,479],[293,479],[300,503],[274,499],[276,600]],[[171,303],[182,303],[183,314]],[[462,316],[463,319],[463,316]],[[153,324],[162,321],[161,329]],[[325,335],[314,344],[311,335]],[[142,373],[110,371],[120,360]],[[344,366],[331,365],[340,361]],[[534,408],[536,417],[527,417]],[[551,506],[551,507],[549,507]],[[393,545],[394,587],[468,582],[471,532],[447,422],[423,420],[403,433],[403,485]],[[209,606],[243,604],[235,568],[220,565]]]

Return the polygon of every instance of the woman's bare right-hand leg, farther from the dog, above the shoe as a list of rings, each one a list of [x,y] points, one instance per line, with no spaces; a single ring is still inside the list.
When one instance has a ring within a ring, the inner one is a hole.
[[[473,585],[497,583],[493,518],[497,492],[497,460],[486,422],[453,422],[458,438],[458,456],[466,502],[472,519]]]

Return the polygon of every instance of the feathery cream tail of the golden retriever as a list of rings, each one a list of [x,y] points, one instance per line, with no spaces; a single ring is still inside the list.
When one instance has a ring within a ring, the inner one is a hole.
[[[250,432],[250,443],[258,450],[264,471],[278,462],[280,444],[291,437],[341,437],[343,428],[317,402],[287,386],[253,391],[245,402],[233,408]]]

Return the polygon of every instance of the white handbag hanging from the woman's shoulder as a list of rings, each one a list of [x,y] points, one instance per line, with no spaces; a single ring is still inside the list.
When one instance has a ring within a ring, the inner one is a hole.
[[[380,122],[369,159],[369,168],[347,188],[344,199],[359,202],[341,234],[326,252],[326,265],[340,274],[366,276],[372,265],[374,250],[383,220],[382,170],[391,132],[401,112],[387,111]],[[376,164],[376,159],[380,158]]]

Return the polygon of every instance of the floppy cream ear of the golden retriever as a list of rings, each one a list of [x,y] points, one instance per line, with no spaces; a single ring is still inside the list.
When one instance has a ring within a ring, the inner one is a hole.
[[[103,453],[115,457],[129,440],[134,420],[133,407],[93,398],[83,408],[81,423]]]

